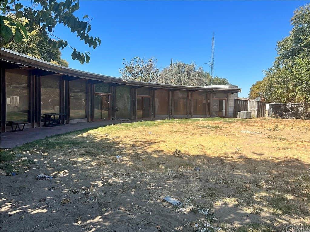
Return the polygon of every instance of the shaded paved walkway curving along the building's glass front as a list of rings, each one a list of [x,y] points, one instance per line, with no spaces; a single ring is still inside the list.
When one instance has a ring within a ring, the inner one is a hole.
[[[129,123],[137,122],[136,120],[130,121],[119,121],[119,120],[109,120],[109,121],[97,121],[97,122],[77,122],[64,124],[58,127],[37,127],[37,128],[27,128],[24,131],[16,132],[4,132],[0,135],[0,147],[1,148],[13,148],[25,143],[32,142],[38,139],[44,139],[45,137],[57,134],[64,134],[70,131],[77,131],[91,127],[102,127],[118,123]]]

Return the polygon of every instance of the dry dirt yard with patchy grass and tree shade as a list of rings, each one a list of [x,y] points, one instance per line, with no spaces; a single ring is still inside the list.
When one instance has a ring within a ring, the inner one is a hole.
[[[2,151],[1,231],[309,226],[309,152],[310,122],[295,119],[172,119],[53,136]]]

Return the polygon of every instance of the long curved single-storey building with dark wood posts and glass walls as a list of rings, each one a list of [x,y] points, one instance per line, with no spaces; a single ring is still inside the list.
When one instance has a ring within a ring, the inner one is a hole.
[[[65,123],[97,120],[229,117],[234,85],[181,86],[83,72],[1,50],[1,132],[8,121],[41,127],[42,114]]]

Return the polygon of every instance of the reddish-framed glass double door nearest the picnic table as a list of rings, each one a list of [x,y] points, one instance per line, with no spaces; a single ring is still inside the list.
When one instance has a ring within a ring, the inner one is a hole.
[[[110,95],[95,94],[95,120],[110,119]]]

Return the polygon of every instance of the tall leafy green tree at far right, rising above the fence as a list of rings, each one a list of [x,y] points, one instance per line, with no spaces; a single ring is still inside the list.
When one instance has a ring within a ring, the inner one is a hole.
[[[290,35],[277,43],[278,56],[263,84],[254,84],[250,97],[260,92],[269,102],[310,103],[310,4],[294,11],[291,24]]]

